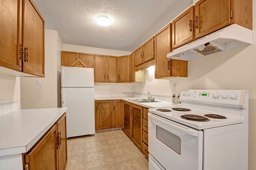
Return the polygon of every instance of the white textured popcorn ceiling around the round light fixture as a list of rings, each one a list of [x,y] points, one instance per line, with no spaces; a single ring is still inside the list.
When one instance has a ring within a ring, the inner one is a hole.
[[[134,51],[193,0],[33,0],[64,44]],[[95,20],[105,15],[108,27]]]

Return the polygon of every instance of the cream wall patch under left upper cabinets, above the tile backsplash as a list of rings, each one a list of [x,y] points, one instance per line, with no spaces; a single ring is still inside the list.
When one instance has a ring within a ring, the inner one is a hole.
[[[0,74],[0,101],[16,99],[20,109],[20,77]]]

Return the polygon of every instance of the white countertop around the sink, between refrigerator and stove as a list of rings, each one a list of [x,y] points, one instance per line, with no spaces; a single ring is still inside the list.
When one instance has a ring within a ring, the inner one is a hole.
[[[169,102],[149,102],[149,103],[139,103],[130,101],[129,99],[140,99],[140,97],[109,97],[109,98],[95,98],[95,101],[104,101],[104,100],[123,100],[127,101],[133,104],[137,104],[139,106],[145,107],[145,108],[165,108],[165,107],[173,107],[175,105],[169,103]]]

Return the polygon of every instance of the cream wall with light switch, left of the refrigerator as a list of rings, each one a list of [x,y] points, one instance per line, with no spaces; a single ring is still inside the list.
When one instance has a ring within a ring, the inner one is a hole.
[[[21,77],[21,108],[56,108],[60,106],[60,51],[58,32],[45,30],[45,77]],[[56,68],[57,67],[57,68]],[[36,84],[41,79],[41,85]],[[58,102],[59,100],[59,102]]]

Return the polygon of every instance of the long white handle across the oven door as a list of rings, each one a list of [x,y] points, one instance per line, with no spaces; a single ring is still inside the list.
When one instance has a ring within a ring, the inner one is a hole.
[[[155,119],[156,121],[161,122],[161,123],[163,123],[163,124],[165,124],[165,125],[167,125],[167,126],[169,126],[171,128],[174,128],[174,129],[176,129],[176,130],[178,130],[180,132],[184,132],[184,133],[186,133],[188,135],[192,135],[192,136],[196,136],[197,137],[199,135],[198,133],[200,133],[200,132],[198,132],[199,130],[195,130],[195,129],[186,127],[186,126],[184,126],[182,124],[178,124],[178,123],[176,123],[174,121],[169,121],[167,119],[163,120],[165,118],[158,118],[157,115],[152,115],[152,113],[151,114],[149,113],[148,117],[150,117],[152,119]]]

